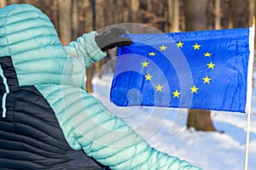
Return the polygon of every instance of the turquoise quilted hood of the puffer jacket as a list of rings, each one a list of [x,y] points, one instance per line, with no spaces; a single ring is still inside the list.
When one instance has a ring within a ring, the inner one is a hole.
[[[0,59],[9,56],[20,86],[66,84],[84,88],[84,60],[67,54],[55,27],[38,8],[0,8]]]

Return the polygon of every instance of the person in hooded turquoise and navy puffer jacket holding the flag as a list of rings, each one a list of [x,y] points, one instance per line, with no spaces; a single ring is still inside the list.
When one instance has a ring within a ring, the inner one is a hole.
[[[28,4],[0,9],[0,167],[201,169],[151,148],[84,91],[84,69],[124,30],[91,31],[63,48],[49,18]]]

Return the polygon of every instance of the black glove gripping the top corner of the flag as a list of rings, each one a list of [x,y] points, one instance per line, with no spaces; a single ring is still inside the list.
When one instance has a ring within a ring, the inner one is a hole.
[[[112,28],[108,32],[95,37],[96,44],[102,51],[106,51],[115,47],[129,46],[131,45],[130,37],[119,37],[125,34],[125,29]]]

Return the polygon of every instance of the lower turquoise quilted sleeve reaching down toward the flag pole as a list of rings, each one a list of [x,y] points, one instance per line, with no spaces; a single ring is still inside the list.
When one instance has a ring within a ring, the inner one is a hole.
[[[37,86],[55,111],[68,144],[111,169],[200,170],[154,148],[79,88]]]

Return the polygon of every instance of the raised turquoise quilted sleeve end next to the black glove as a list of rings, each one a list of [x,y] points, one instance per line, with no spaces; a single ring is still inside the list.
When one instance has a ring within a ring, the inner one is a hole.
[[[102,52],[95,42],[96,35],[96,31],[85,33],[82,37],[70,42],[64,48],[71,56],[83,57],[85,67],[88,67],[91,63],[95,63],[106,56],[106,53]]]

